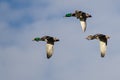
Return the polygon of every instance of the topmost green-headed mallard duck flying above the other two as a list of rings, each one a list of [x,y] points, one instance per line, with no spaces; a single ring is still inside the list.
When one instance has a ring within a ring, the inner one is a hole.
[[[92,17],[90,14],[85,13],[83,11],[76,10],[75,13],[67,13],[64,17],[76,17],[80,20],[80,24],[82,27],[83,32],[86,31],[87,23],[86,19]]]

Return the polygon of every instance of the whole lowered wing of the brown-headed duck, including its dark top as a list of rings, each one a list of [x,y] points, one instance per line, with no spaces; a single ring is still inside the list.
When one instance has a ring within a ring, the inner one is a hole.
[[[106,38],[100,39],[101,57],[104,57],[104,56],[105,56],[106,48],[107,48],[107,39],[106,39]]]

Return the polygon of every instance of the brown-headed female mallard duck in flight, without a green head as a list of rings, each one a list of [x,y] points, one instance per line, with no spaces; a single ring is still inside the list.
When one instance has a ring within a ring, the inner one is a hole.
[[[95,34],[95,35],[89,35],[86,37],[87,40],[93,40],[93,39],[97,39],[100,41],[100,51],[101,51],[101,57],[105,56],[106,53],[106,47],[107,47],[107,40],[110,37],[108,35],[104,35],[104,34]]]

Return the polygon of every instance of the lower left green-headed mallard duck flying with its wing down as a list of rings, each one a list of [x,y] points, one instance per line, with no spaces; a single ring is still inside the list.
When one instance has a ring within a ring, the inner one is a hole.
[[[51,36],[43,36],[41,38],[36,37],[33,39],[33,41],[45,41],[47,42],[46,44],[46,53],[47,53],[47,58],[49,59],[52,54],[53,54],[53,50],[54,50],[54,42],[59,41],[59,39],[55,38],[55,37],[51,37]]]

